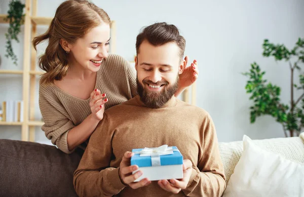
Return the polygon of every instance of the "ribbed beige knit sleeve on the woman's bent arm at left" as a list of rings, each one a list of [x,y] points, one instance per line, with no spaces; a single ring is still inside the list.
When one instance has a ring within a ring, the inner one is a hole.
[[[61,104],[55,102],[55,99],[51,97],[52,94],[48,95],[48,99],[46,98],[46,92],[47,90],[41,85],[39,88],[39,107],[45,122],[41,129],[58,149],[70,154],[74,150],[68,150],[67,133],[75,125],[62,113],[65,109]]]

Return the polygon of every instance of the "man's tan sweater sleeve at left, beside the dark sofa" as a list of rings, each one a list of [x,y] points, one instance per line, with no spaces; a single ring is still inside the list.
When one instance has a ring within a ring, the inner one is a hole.
[[[105,113],[74,172],[73,184],[79,196],[112,196],[125,188],[118,174],[119,168],[109,167],[112,156],[110,133]]]

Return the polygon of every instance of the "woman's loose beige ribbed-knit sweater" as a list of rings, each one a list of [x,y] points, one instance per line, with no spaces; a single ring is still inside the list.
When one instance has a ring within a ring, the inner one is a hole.
[[[107,95],[105,109],[128,101],[136,95],[136,70],[121,56],[109,54],[97,72],[95,88]],[[89,102],[90,98],[74,97],[55,84],[40,83],[39,106],[45,122],[42,130],[61,151],[71,153],[67,133],[91,114]],[[86,145],[87,141],[80,147],[85,149]]]

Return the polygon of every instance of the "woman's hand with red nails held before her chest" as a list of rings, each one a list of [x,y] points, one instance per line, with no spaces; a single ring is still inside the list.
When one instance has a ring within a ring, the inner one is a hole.
[[[104,113],[104,104],[108,101],[105,93],[100,93],[99,89],[94,89],[90,96],[90,108],[92,117],[96,120],[102,120]]]

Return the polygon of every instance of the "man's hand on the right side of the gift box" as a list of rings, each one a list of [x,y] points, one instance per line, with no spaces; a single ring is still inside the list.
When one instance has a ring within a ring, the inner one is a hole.
[[[183,178],[182,179],[171,179],[168,180],[159,180],[158,184],[166,191],[172,193],[179,193],[181,189],[185,189],[188,185],[191,173],[192,173],[192,162],[190,160],[183,161]]]

